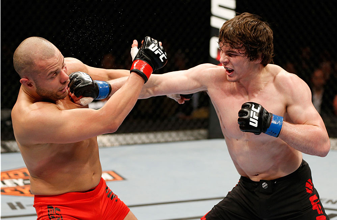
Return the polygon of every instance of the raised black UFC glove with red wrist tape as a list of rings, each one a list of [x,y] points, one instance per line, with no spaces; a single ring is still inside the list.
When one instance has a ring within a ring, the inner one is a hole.
[[[130,72],[138,73],[146,83],[154,70],[160,69],[168,62],[164,48],[157,40],[147,36],[137,52]]]

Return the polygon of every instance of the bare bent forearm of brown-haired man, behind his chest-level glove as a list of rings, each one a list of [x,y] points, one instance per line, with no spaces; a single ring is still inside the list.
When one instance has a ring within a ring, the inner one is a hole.
[[[306,154],[324,157],[330,151],[330,140],[326,131],[316,125],[291,124],[284,121],[278,138]]]

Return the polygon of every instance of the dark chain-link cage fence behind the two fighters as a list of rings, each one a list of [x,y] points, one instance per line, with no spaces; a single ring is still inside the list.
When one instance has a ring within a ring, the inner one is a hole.
[[[270,23],[274,63],[318,91],[315,104],[332,137],[337,136],[336,11],[330,0],[236,0],[236,12],[257,14]],[[10,111],[20,83],[13,53],[27,37],[44,37],[65,57],[99,68],[129,69],[132,41],[146,35],[162,41],[169,56],[157,74],[211,62],[211,0],[3,0],[0,16],[1,141],[14,140]],[[319,78],[317,69],[323,73]],[[139,100],[116,134],[207,130],[209,107],[205,92],[184,105],[164,96]]]

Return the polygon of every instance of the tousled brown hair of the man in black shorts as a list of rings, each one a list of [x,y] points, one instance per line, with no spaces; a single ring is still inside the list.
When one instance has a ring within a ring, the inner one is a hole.
[[[261,59],[263,66],[273,62],[273,32],[259,16],[242,13],[226,21],[220,29],[218,43],[220,48],[237,49],[250,61]]]

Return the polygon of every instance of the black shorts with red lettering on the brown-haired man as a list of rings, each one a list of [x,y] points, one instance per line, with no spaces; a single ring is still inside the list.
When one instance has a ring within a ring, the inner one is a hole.
[[[201,220],[328,220],[303,160],[293,173],[254,182],[241,176],[238,184]]]

